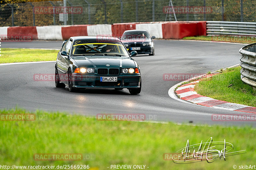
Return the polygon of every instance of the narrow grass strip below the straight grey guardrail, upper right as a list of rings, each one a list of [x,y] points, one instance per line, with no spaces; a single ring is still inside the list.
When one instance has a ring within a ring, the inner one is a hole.
[[[197,36],[197,37],[184,37],[185,40],[201,40],[201,41],[220,41],[220,42],[233,42],[242,44],[255,43],[255,37],[237,37],[237,36]]]

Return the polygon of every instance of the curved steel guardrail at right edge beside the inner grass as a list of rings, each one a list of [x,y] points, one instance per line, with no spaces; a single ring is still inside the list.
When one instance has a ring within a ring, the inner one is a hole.
[[[256,89],[256,43],[244,46],[239,50],[241,80]]]

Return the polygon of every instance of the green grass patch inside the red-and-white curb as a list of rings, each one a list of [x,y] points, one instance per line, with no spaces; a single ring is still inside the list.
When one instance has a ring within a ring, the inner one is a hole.
[[[205,78],[196,84],[198,94],[231,103],[256,107],[256,91],[240,79],[241,67],[223,70],[222,74]]]

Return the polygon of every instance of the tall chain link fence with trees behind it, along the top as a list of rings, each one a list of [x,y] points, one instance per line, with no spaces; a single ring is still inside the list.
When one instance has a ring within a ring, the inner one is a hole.
[[[1,4],[0,26],[152,21],[256,22],[255,0],[67,0]],[[174,11],[174,12],[173,12]],[[66,14],[65,14],[66,13]],[[66,15],[66,17],[65,17]]]

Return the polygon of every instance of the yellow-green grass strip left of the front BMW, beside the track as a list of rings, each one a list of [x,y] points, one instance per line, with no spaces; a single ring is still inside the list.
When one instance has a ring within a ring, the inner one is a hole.
[[[58,50],[34,50],[1,48],[0,63],[54,61]]]

